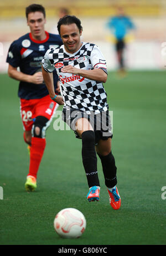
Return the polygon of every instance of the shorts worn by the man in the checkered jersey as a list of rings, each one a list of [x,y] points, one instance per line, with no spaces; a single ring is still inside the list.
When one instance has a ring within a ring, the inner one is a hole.
[[[94,111],[81,111],[78,109],[66,109],[64,107],[62,113],[62,120],[70,126],[70,128],[75,132],[77,139],[81,139],[76,132],[75,124],[76,121],[82,117],[85,117],[89,120],[91,126],[95,132],[95,142],[96,145],[99,140],[107,140],[112,138],[111,132],[111,119],[109,111],[102,111],[100,114],[94,114]]]

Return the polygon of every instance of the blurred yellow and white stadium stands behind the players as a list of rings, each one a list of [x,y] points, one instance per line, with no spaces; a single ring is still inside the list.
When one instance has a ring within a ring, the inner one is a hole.
[[[165,0],[47,0],[26,2],[6,0],[0,2],[0,72],[6,73],[6,55],[13,40],[29,32],[25,19],[25,7],[29,4],[43,4],[46,9],[46,30],[57,33],[61,7],[81,19],[82,40],[96,43],[107,60],[107,68],[117,68],[113,37],[106,27],[108,19],[116,15],[117,6],[122,6],[136,26],[127,35],[125,62],[130,70],[164,69],[162,43],[166,41]]]

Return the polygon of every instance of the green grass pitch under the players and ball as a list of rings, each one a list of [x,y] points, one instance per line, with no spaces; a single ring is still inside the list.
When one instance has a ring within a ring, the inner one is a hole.
[[[118,211],[108,194],[98,158],[99,202],[88,202],[81,141],[72,131],[46,132],[37,191],[24,190],[29,155],[23,141],[18,81],[1,79],[0,244],[113,245],[166,244],[165,72],[131,71],[120,79],[110,72],[105,89],[113,111],[112,152],[116,159]],[[62,108],[60,107],[59,110]],[[63,208],[79,209],[87,227],[79,239],[63,239],[53,221]]]

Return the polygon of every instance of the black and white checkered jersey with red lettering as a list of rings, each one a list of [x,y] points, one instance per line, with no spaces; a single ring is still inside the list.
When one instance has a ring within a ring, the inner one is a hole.
[[[74,54],[66,52],[64,45],[61,45],[45,53],[42,65],[49,72],[56,69],[64,107],[94,111],[95,114],[108,110],[107,94],[101,82],[61,72],[64,65],[72,65],[85,70],[103,69],[107,73],[106,60],[97,45],[82,42],[81,48]]]

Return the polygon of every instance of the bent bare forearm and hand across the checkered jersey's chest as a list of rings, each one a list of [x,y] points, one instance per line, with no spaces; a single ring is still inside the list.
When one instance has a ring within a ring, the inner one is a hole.
[[[107,81],[107,74],[102,69],[85,70],[85,69],[78,69],[78,68],[75,68],[74,66],[68,65],[61,68],[61,72],[80,75],[84,78],[94,80],[94,81],[100,81],[102,83],[106,83]]]

